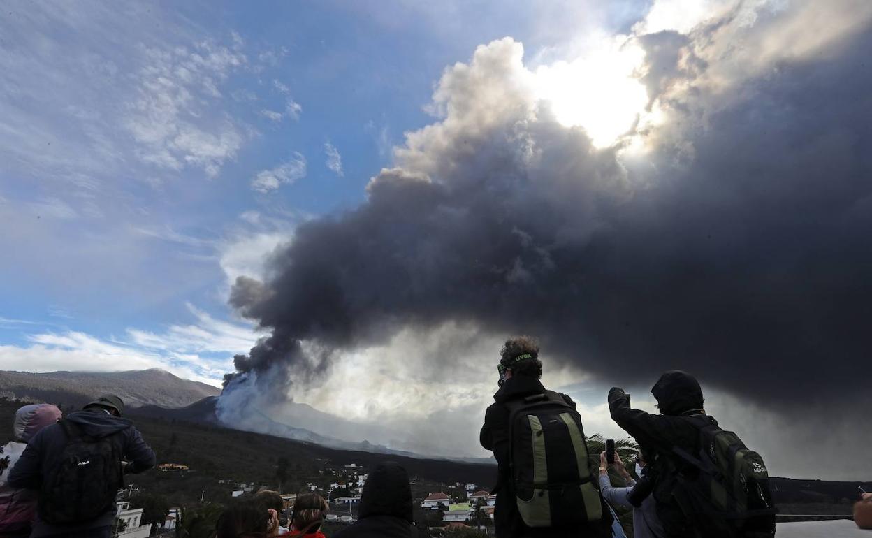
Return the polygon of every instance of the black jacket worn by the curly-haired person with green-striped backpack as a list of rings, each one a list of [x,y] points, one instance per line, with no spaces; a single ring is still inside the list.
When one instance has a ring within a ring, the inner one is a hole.
[[[529,376],[514,376],[508,378],[494,394],[494,404],[491,404],[485,412],[485,423],[481,426],[479,440],[481,446],[494,453],[497,462],[497,483],[494,487],[496,493],[496,507],[494,507],[494,525],[497,535],[516,537],[545,537],[545,536],[568,536],[565,529],[555,528],[529,528],[521,519],[518,512],[517,501],[512,490],[511,462],[509,461],[509,411],[508,401],[525,398],[533,394],[542,394],[545,387],[539,379]],[[566,394],[561,394],[566,403],[576,407]],[[589,524],[588,528],[577,529],[579,538],[611,536],[611,514],[604,506],[603,521]]]

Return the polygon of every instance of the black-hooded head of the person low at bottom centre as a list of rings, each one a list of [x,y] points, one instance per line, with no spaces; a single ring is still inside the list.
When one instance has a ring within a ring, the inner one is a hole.
[[[370,469],[360,495],[358,519],[373,515],[391,515],[412,522],[412,487],[405,467],[393,461]]]

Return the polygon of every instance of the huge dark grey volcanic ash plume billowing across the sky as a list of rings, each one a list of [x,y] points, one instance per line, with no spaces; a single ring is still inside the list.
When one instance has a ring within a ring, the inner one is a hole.
[[[869,402],[869,7],[728,11],[632,42],[664,119],[607,149],[537,99],[521,44],[447,69],[443,118],[368,200],[236,281],[232,305],[271,335],[230,387],[254,373],[283,396],[340,351],[453,322],[535,334],[606,383],[684,368],[778,409]]]

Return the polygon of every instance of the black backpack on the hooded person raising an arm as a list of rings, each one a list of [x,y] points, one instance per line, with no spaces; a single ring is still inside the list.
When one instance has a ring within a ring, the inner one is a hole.
[[[673,447],[684,465],[672,496],[693,528],[706,538],[773,536],[777,510],[760,454],[712,417],[683,419],[698,428],[699,448]]]

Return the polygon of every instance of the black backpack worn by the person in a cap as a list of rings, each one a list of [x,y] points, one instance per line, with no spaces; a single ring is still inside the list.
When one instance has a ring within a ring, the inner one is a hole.
[[[54,524],[90,521],[105,514],[124,487],[121,455],[113,435],[94,439],[67,419],[59,424],[67,443],[43,478],[39,514]]]

